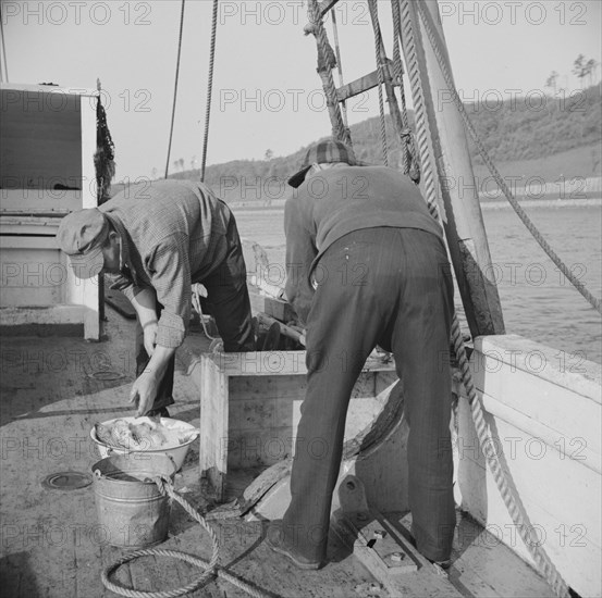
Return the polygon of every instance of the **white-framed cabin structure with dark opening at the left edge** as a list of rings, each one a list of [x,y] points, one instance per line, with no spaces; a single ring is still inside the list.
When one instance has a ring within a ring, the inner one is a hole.
[[[98,340],[98,281],[75,279],[56,242],[64,214],[97,204],[97,92],[8,84],[0,92],[0,325],[83,324]]]

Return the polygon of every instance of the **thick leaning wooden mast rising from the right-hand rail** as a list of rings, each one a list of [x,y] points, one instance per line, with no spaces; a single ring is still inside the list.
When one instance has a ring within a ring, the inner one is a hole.
[[[456,279],[472,337],[504,334],[500,296],[491,266],[479,194],[464,132],[464,124],[451,99],[437,55],[413,1],[400,0],[402,14],[409,15],[420,76],[410,78],[413,95],[420,84],[425,95],[430,147],[445,208],[445,235]],[[421,0],[441,40],[445,67],[452,73],[437,0]],[[405,11],[404,11],[405,9]],[[404,53],[407,61],[407,40]],[[409,65],[408,65],[409,66]],[[416,104],[416,102],[415,102]]]

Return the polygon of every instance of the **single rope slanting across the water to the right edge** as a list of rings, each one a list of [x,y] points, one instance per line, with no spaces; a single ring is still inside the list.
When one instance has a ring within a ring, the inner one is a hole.
[[[470,134],[470,137],[475,141],[475,145],[477,146],[477,149],[479,153],[481,154],[481,158],[483,159],[483,162],[487,164],[489,171],[491,172],[493,178],[495,179],[495,183],[500,186],[500,189],[502,189],[504,196],[509,201],[511,205],[513,207],[514,211],[517,213],[518,217],[521,220],[523,224],[527,227],[529,233],[533,236],[536,241],[539,244],[539,246],[545,251],[548,257],[554,262],[554,265],[566,276],[566,278],[570,282],[570,284],[583,296],[583,298],[589,302],[589,304],[599,313],[602,314],[602,307],[600,299],[594,297],[574,274],[570,272],[568,266],[561,260],[561,258],[556,254],[556,252],[550,247],[548,241],[543,238],[541,233],[538,231],[537,226],[532,223],[532,221],[527,215],[527,212],[523,209],[523,207],[518,203],[517,199],[514,197],[507,185],[505,184],[504,179],[502,178],[502,175],[495,167],[495,164],[491,160],[491,157],[489,155],[487,149],[482,145],[482,141],[479,138],[479,135],[477,134],[472,123],[470,122],[470,117],[468,116],[466,109],[464,108],[464,104],[462,103],[462,99],[459,98],[455,86],[452,80],[452,76],[447,70],[447,66],[445,65],[445,61],[443,60],[441,55],[441,48],[440,48],[440,39],[437,33],[434,32],[434,28],[432,27],[430,14],[428,14],[428,11],[425,9],[421,2],[416,3],[418,8],[418,12],[420,13],[422,17],[422,22],[425,24],[425,29],[427,32],[427,36],[429,37],[430,45],[433,49],[433,52],[437,55],[437,59],[439,61],[439,65],[441,67],[441,72],[443,74],[443,77],[445,78],[445,83],[449,87],[449,90],[452,94],[452,99],[454,100],[454,104],[456,105],[462,120],[464,121],[464,124]]]

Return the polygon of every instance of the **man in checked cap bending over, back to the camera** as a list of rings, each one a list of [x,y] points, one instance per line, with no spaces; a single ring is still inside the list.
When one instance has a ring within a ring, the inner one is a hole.
[[[418,550],[442,564],[455,526],[449,352],[453,286],[442,232],[409,178],[359,166],[351,148],[309,149],[286,201],[286,297],[307,328],[307,393],[292,499],[268,544],[303,569],[327,557],[351,393],[376,345],[395,356],[409,422]],[[401,459],[402,456],[400,456]]]

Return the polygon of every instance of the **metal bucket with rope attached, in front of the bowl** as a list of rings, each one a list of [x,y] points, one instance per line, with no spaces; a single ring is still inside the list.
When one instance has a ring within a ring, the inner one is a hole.
[[[165,454],[113,454],[91,469],[103,541],[138,549],[167,539],[170,500],[152,478],[162,476],[173,482],[173,459]]]

